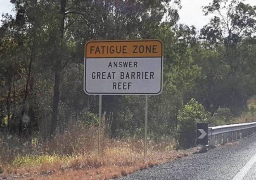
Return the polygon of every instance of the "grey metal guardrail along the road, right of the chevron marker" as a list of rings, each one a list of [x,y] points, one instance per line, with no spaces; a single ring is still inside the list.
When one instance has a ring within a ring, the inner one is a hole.
[[[232,142],[253,133],[256,133],[256,122],[209,127],[209,147]]]

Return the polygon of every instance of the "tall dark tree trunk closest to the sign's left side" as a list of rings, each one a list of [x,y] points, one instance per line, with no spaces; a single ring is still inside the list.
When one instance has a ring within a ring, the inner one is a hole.
[[[61,0],[60,14],[62,14],[62,21],[60,26],[60,37],[64,37],[64,21],[65,21],[65,9],[66,0]],[[57,119],[59,113],[59,84],[60,84],[60,73],[61,73],[61,57],[57,59],[55,63],[55,84],[53,92],[53,103],[52,103],[52,122],[50,129],[50,138],[54,136],[55,130],[57,128]]]

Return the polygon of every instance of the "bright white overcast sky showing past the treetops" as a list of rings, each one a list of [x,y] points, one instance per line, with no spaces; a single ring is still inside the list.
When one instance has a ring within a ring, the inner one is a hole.
[[[194,25],[197,30],[200,30],[205,24],[208,23],[210,16],[204,16],[202,6],[209,5],[212,0],[181,0],[182,9],[180,9],[179,23]],[[246,3],[256,5],[256,0],[246,0]],[[0,0],[0,15],[2,13],[12,12],[13,6],[10,0]]]

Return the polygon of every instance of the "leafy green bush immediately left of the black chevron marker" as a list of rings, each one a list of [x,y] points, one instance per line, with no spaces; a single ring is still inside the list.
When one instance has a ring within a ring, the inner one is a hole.
[[[191,99],[178,113],[179,125],[176,130],[176,139],[179,147],[190,148],[196,144],[197,123],[206,123],[209,119],[207,112],[202,104],[195,99]]]

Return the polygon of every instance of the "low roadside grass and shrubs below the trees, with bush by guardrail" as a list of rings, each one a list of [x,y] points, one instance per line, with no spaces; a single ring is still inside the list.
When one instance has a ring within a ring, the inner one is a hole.
[[[97,151],[97,126],[88,128],[81,121],[70,123],[69,130],[57,134],[50,142],[35,136],[31,143],[21,144],[18,138],[1,134],[0,177],[42,180],[119,178],[197,152],[197,148],[187,145],[195,141],[192,124],[197,121],[189,121],[190,118],[223,125],[255,121],[255,116],[255,109],[249,108],[237,117],[231,116],[227,109],[218,109],[210,117],[209,112],[192,99],[178,115],[182,120],[177,128],[179,136],[162,137],[158,142],[149,140],[146,158],[144,140],[137,137],[113,139],[107,133],[105,121],[100,154]],[[189,149],[183,150],[185,145]]]

